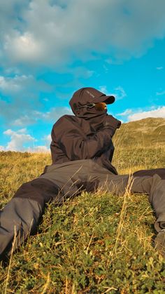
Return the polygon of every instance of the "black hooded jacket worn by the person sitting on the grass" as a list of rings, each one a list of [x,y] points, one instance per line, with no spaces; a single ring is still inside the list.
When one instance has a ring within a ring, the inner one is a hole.
[[[81,89],[82,90],[82,89]],[[104,168],[117,174],[112,166],[113,142],[112,138],[120,121],[109,116],[106,111],[98,111],[88,107],[76,109],[75,102],[83,105],[83,95],[78,91],[70,100],[71,108],[76,116],[62,116],[52,128],[52,142],[50,145],[52,163],[64,163],[79,159],[92,159]],[[85,100],[87,97],[85,96]],[[85,101],[84,105],[91,103]]]

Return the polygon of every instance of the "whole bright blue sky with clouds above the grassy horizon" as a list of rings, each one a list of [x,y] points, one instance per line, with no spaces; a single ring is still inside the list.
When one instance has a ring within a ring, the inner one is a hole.
[[[48,151],[74,91],[123,122],[165,118],[164,0],[1,0],[0,150]]]

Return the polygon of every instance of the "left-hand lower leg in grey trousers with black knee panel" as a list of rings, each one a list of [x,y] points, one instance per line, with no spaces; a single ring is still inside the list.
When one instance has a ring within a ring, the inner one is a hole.
[[[37,178],[23,184],[0,212],[0,257],[13,250],[36,230],[45,203],[61,200],[59,188],[49,180]]]

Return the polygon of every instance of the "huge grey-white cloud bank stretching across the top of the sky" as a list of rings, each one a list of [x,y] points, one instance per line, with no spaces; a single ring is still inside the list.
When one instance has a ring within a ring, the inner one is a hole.
[[[92,52],[139,56],[164,37],[164,9],[164,0],[1,1],[2,61],[62,67]]]

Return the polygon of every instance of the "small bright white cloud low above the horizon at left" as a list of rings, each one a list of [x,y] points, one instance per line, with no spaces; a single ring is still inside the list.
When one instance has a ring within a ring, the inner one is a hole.
[[[22,128],[18,131],[12,131],[11,129],[8,129],[4,131],[3,134],[10,136],[10,141],[6,146],[6,150],[10,151],[25,151],[27,150],[27,144],[30,143],[31,145],[34,145],[34,142],[36,142],[34,137],[31,137],[31,135],[27,134],[26,128]]]

